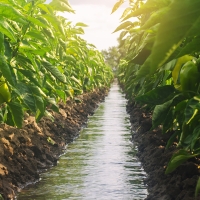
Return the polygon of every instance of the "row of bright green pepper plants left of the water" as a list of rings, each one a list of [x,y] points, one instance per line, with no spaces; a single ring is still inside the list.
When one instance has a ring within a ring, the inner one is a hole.
[[[24,112],[39,121],[47,106],[95,88],[113,75],[96,48],[83,40],[86,26],[59,12],[74,13],[68,0],[0,2],[0,121],[22,127]]]

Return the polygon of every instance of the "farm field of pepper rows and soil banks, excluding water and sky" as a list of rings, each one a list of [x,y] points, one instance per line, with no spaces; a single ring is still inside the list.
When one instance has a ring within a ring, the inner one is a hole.
[[[75,14],[68,0],[0,2],[2,198],[57,163],[114,79],[147,173],[144,198],[200,198],[200,1],[126,3],[118,45],[100,52],[82,39],[84,22],[61,14]]]

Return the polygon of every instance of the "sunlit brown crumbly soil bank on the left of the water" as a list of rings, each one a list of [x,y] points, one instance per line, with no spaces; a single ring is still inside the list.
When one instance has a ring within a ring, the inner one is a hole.
[[[81,95],[79,103],[68,100],[60,104],[60,113],[49,110],[53,122],[44,117],[36,124],[34,117],[26,115],[22,129],[0,124],[0,194],[5,200],[37,181],[42,170],[56,165],[66,144],[79,135],[107,92],[101,89]]]

